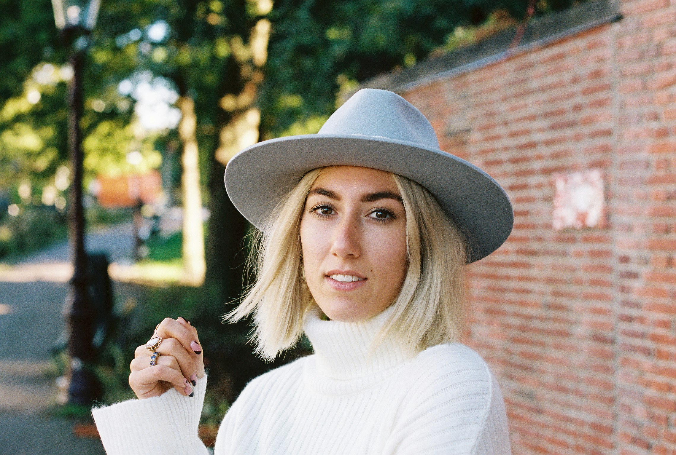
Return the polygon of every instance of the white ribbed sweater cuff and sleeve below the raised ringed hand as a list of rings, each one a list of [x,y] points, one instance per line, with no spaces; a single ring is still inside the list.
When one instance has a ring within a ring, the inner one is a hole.
[[[195,396],[171,388],[160,396],[136,398],[91,409],[107,455],[208,455],[197,430],[207,375]]]

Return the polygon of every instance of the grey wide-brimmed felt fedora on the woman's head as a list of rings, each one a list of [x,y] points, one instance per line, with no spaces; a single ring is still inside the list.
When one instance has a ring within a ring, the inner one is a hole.
[[[264,140],[237,153],[225,169],[233,204],[257,228],[310,169],[373,167],[425,186],[465,232],[467,263],[498,249],[512,232],[514,211],[504,189],[472,163],[439,149],[429,120],[389,90],[362,88],[317,134]]]

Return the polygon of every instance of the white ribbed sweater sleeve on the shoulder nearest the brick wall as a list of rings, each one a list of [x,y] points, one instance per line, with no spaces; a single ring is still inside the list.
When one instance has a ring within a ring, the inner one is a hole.
[[[510,455],[498,383],[478,354],[420,365],[393,428],[391,455]]]

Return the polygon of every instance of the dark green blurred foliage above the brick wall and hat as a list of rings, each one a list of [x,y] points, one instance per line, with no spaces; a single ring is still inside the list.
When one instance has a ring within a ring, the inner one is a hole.
[[[577,0],[540,0],[535,16]],[[260,105],[268,139],[319,130],[336,95],[525,17],[524,0],[276,1]],[[493,11],[500,14],[493,14]],[[497,22],[500,22],[498,24]],[[502,27],[502,28],[501,28]]]

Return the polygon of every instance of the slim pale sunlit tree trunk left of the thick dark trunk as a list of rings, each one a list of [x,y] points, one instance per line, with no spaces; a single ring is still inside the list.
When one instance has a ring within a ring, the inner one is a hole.
[[[197,148],[197,117],[195,102],[182,93],[178,98],[181,111],[178,136],[183,143],[183,279],[185,284],[201,286],[206,272],[202,197],[199,187],[199,149]]]

